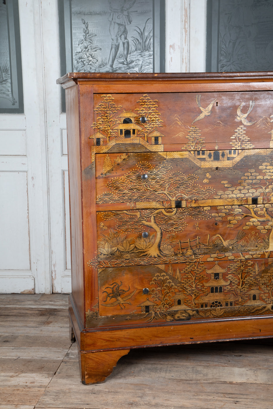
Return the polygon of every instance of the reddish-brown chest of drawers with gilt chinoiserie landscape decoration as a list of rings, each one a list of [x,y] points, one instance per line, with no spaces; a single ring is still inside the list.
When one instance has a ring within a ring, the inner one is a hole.
[[[130,348],[273,337],[273,73],[57,82],[82,382]]]

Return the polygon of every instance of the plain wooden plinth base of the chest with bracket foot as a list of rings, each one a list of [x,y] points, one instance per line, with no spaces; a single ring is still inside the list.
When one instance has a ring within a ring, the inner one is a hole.
[[[137,328],[84,328],[71,295],[69,318],[83,384],[104,382],[118,360],[132,348],[273,338],[271,315]]]

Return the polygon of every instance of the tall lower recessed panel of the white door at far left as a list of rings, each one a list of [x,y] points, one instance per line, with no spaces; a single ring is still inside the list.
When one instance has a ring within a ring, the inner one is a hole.
[[[27,174],[0,174],[0,270],[30,270]]]

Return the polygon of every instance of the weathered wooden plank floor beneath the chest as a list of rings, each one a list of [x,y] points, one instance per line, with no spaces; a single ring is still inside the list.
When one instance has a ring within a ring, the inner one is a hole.
[[[0,294],[0,409],[273,409],[271,340],[132,350],[80,383],[68,296]]]

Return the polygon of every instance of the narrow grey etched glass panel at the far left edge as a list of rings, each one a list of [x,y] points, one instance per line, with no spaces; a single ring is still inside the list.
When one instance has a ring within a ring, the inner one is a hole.
[[[0,38],[0,113],[22,113],[22,63],[16,0],[0,2]]]

